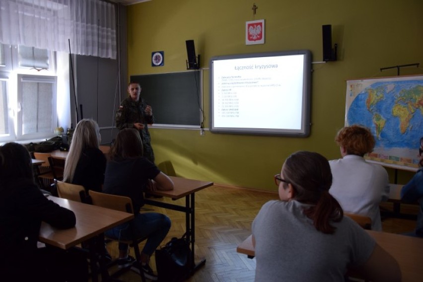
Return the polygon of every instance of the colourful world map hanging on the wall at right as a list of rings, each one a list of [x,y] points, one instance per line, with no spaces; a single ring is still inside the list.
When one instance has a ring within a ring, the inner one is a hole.
[[[423,137],[423,76],[347,81],[346,126],[368,127],[376,145],[366,159],[418,167]]]

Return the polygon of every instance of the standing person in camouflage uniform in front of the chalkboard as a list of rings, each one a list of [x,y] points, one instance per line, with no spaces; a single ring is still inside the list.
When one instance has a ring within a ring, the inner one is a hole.
[[[129,97],[122,101],[116,113],[116,127],[135,128],[140,132],[142,144],[144,146],[144,157],[154,163],[154,152],[151,147],[148,124],[154,123],[151,106],[140,98],[141,86],[138,82],[130,82],[128,85]]]

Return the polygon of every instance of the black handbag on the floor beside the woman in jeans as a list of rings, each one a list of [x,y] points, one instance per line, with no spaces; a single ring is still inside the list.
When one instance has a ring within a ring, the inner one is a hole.
[[[192,269],[191,248],[185,238],[173,237],[155,251],[156,268],[160,282],[184,281]]]

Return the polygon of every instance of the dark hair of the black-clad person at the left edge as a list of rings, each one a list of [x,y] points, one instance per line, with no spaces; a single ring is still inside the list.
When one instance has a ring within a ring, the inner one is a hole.
[[[20,178],[34,182],[31,155],[21,144],[5,143],[0,146],[0,184]]]

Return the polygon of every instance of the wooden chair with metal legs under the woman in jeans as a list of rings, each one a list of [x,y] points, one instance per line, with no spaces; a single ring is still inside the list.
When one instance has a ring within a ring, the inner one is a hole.
[[[103,207],[103,208],[107,208],[107,209],[111,209],[111,210],[116,210],[116,211],[124,211],[124,212],[134,213],[134,209],[133,209],[133,206],[132,206],[132,200],[129,197],[105,194],[105,193],[96,192],[96,191],[92,191],[92,190],[88,191],[88,195],[91,198],[91,203],[94,206],[99,206],[99,207]],[[129,223],[130,223],[130,228],[133,232],[134,231],[133,220],[131,220]],[[116,238],[110,238],[110,237],[107,237],[107,238],[111,239],[111,240],[117,240]],[[119,242],[129,244],[131,247],[134,248],[135,257],[137,259],[135,265],[137,267],[139,267],[139,272],[141,274],[142,282],[145,282],[145,277],[144,277],[144,273],[141,269],[141,263],[140,263],[141,262],[141,253],[140,253],[140,248],[138,247],[138,244],[145,239],[146,239],[145,237],[136,238],[135,234],[133,232],[132,240],[129,240],[129,241],[119,240]],[[109,266],[112,266],[116,263],[117,263],[117,260],[112,262],[112,264],[109,265]],[[130,267],[126,268],[126,269],[124,268],[124,269],[121,269],[121,270],[115,272],[113,275],[111,275],[111,279],[113,280],[114,278],[119,277],[120,275],[123,274],[123,272],[127,271],[128,269],[130,269]]]

